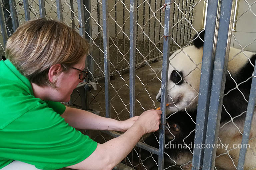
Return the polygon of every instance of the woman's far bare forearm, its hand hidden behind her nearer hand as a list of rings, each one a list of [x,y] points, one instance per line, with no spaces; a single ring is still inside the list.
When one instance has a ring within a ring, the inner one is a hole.
[[[70,126],[79,129],[126,131],[138,119],[138,116],[126,121],[101,117],[91,112],[66,106],[61,115]]]

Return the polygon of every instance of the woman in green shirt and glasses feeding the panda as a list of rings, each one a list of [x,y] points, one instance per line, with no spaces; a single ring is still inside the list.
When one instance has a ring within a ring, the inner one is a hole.
[[[0,61],[0,169],[110,170],[143,134],[158,130],[161,111],[117,121],[59,103],[85,79],[88,48],[77,32],[45,19],[9,38]],[[126,132],[99,144],[75,128]]]

